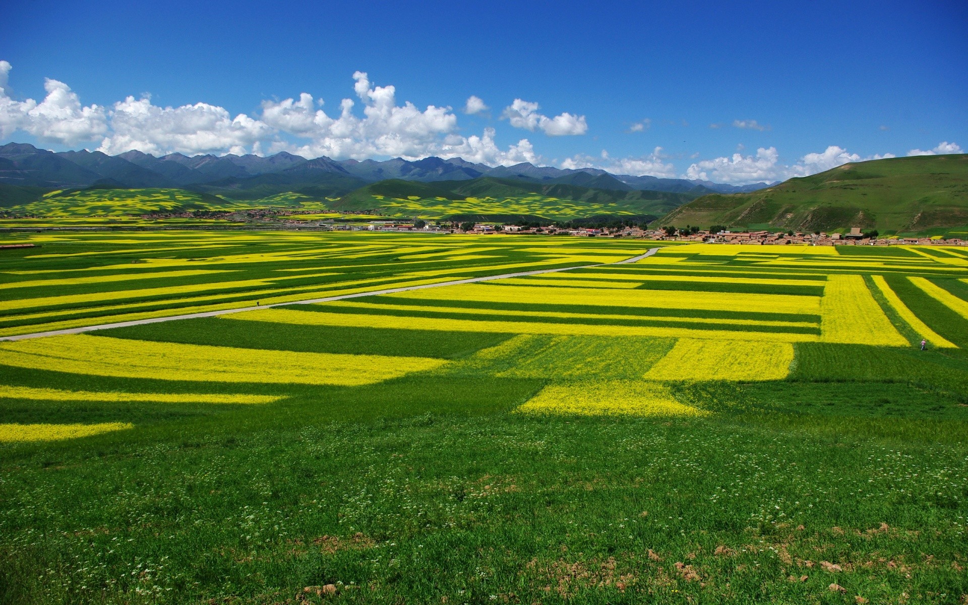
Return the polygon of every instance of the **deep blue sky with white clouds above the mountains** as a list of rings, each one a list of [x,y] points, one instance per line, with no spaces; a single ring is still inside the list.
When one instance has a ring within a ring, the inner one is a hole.
[[[3,14],[0,141],[55,150],[460,155],[740,183],[968,147],[963,0]],[[488,109],[466,113],[470,96]]]

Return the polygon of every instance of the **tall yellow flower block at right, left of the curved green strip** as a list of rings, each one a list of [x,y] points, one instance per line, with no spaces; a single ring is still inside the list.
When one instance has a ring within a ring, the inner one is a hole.
[[[831,275],[821,299],[821,340],[907,347],[907,339],[884,315],[861,275]]]

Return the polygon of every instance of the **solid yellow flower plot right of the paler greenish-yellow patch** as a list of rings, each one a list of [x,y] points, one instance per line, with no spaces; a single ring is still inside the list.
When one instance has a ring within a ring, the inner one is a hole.
[[[793,345],[682,338],[660,359],[651,380],[780,380],[790,374]]]

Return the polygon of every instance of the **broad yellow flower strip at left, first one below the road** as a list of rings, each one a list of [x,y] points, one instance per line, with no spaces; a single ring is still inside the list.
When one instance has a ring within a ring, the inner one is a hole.
[[[209,347],[86,334],[0,343],[0,364],[3,365],[166,380],[350,386],[432,370],[444,363],[424,357]]]

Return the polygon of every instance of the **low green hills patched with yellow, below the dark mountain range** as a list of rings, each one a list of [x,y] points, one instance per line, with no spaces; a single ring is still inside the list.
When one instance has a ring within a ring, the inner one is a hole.
[[[601,181],[601,179],[599,179]],[[589,179],[589,182],[596,182]],[[226,181],[227,183],[227,181]],[[261,186],[260,186],[261,187]],[[333,196],[328,186],[276,191],[277,186],[233,191],[229,187],[126,189],[104,182],[87,189],[49,191],[4,185],[0,197],[12,216],[48,218],[118,217],[192,210],[241,210],[266,206],[322,206],[341,212],[377,212],[388,217],[511,222],[573,221],[594,217],[637,221],[662,216],[692,199],[688,194],[596,189],[565,183],[531,183],[519,179],[480,177],[424,183],[388,179]],[[219,196],[211,192],[219,192]],[[265,194],[251,197],[254,192]],[[242,194],[244,197],[234,197]],[[342,196],[342,197],[339,197]]]

